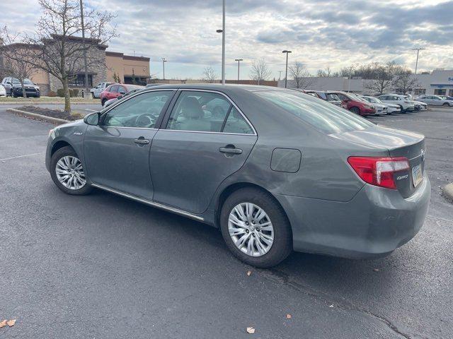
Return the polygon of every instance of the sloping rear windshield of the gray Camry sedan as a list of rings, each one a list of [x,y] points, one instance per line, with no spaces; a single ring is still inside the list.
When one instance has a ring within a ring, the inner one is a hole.
[[[344,133],[374,126],[357,114],[311,97],[311,95],[283,90],[266,90],[255,92],[255,94],[327,134]]]

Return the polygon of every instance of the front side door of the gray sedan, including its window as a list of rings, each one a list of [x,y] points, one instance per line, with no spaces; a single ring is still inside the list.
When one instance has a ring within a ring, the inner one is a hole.
[[[149,150],[173,94],[152,90],[131,96],[105,112],[98,126],[88,126],[84,161],[93,183],[151,200]]]

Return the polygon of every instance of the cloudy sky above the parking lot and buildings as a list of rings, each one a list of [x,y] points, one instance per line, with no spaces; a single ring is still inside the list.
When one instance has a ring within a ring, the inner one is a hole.
[[[200,78],[206,66],[220,76],[222,0],[84,0],[117,15],[120,37],[109,50],[151,57],[151,73],[166,78]],[[0,25],[33,32],[37,0],[6,1]],[[264,58],[278,78],[289,63],[311,71],[334,71],[351,64],[396,61],[418,68],[453,69],[453,1],[444,0],[226,0],[226,78],[236,78],[234,59],[249,66]]]

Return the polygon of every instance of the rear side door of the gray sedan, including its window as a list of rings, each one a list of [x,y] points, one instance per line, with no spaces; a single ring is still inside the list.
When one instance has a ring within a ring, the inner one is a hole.
[[[154,201],[203,213],[219,184],[246,161],[256,131],[222,93],[181,90],[173,102],[151,145]]]

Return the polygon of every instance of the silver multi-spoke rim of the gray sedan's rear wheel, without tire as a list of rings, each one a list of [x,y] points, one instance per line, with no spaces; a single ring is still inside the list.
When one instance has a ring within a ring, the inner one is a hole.
[[[228,231],[236,247],[248,256],[263,256],[274,242],[269,215],[254,203],[239,203],[231,210]]]

